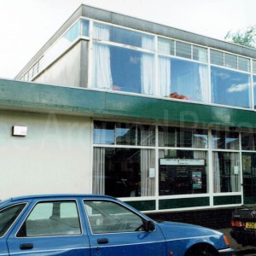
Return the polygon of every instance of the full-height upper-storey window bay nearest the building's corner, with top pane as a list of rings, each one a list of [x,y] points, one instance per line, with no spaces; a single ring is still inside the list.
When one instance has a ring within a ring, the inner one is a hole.
[[[131,32],[130,38],[129,32],[95,24],[94,38],[102,41],[93,44],[93,87],[153,95],[154,54],[142,49],[154,48],[153,37]],[[119,44],[113,45],[110,41]],[[140,49],[131,49],[124,44]]]

